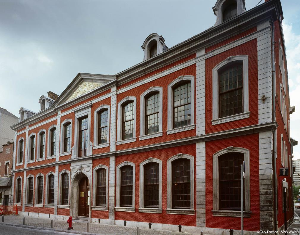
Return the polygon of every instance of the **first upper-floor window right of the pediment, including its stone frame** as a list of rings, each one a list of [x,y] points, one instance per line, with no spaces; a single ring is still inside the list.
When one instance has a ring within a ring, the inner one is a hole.
[[[117,144],[136,141],[136,100],[127,96],[118,103]]]

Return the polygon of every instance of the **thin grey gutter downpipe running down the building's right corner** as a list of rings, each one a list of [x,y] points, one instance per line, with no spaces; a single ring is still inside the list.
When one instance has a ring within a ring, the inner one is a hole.
[[[276,121],[276,75],[275,75],[275,51],[274,51],[274,22],[272,27],[272,111],[273,111],[273,122]],[[278,220],[277,220],[277,211],[278,211],[278,198],[277,198],[277,130],[273,132],[273,177],[274,177],[274,231],[277,231]]]

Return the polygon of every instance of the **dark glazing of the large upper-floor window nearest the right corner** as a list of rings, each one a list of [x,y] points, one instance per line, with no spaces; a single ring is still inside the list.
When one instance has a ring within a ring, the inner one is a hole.
[[[219,72],[219,117],[243,112],[243,65],[236,63]]]

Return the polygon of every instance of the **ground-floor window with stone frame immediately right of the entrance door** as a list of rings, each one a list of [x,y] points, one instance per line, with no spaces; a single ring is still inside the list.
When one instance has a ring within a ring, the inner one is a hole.
[[[108,207],[108,167],[99,164],[93,170],[93,206],[102,207],[107,210]],[[101,208],[95,208],[101,209]]]

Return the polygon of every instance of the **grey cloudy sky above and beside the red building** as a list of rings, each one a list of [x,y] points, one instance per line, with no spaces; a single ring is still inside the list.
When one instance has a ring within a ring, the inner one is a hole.
[[[246,0],[246,9],[259,1]],[[121,72],[142,61],[140,46],[150,33],[162,35],[170,48],[213,26],[215,2],[0,0],[0,107],[17,117],[20,107],[37,112],[41,95],[60,94],[78,72]],[[300,141],[300,4],[281,2],[296,106],[291,137]],[[300,147],[294,156],[300,158]]]

